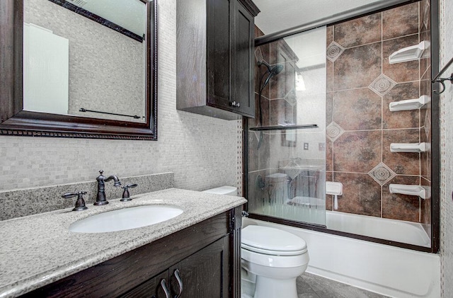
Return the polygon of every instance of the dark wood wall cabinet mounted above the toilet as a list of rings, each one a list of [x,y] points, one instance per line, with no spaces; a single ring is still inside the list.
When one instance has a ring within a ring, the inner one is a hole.
[[[177,4],[176,108],[226,120],[255,117],[250,0]]]

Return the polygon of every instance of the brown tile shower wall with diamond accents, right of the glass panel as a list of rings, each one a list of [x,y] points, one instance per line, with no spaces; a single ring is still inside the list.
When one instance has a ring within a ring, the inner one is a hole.
[[[430,199],[389,192],[390,183],[430,185],[429,152],[390,151],[392,142],[430,142],[430,108],[389,110],[430,96],[429,58],[389,64],[392,52],[430,40],[429,8],[423,0],[327,28],[326,177],[343,183],[338,211],[429,229]]]

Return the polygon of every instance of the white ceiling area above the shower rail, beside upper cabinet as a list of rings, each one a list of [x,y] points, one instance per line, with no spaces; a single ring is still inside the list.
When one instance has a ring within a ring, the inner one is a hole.
[[[386,0],[253,0],[260,8],[255,24],[265,34],[296,27],[353,8]]]

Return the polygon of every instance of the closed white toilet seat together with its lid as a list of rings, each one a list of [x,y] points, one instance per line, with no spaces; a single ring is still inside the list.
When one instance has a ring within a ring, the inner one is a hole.
[[[270,256],[298,256],[307,251],[304,239],[287,231],[257,225],[242,229],[241,248]]]

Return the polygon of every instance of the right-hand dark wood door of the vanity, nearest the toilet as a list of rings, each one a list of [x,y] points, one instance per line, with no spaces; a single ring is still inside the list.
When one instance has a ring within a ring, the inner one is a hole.
[[[176,269],[183,282],[181,298],[229,297],[228,264],[229,237],[225,236],[170,268],[172,297],[180,290],[174,275]]]

